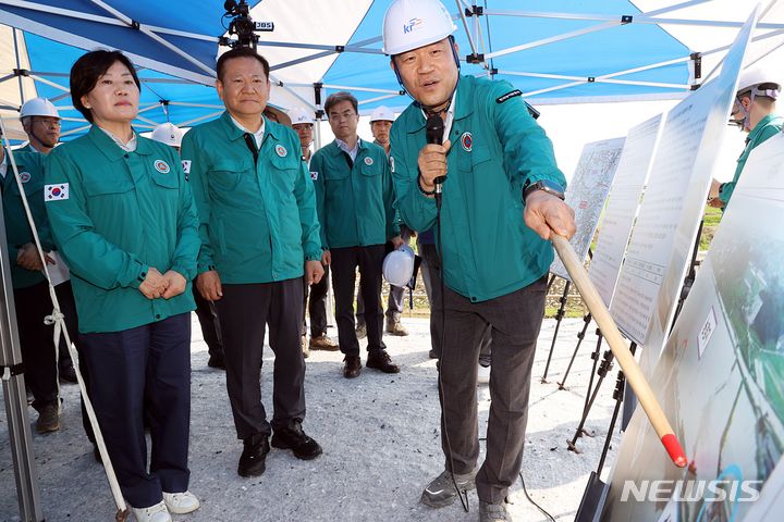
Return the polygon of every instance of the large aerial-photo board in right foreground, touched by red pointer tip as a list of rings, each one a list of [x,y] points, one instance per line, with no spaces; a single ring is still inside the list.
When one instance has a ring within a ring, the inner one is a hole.
[[[678,481],[674,520],[782,520],[784,227],[771,226],[782,215],[784,134],[751,152],[650,378],[689,464],[670,462],[638,408],[601,520],[659,520],[667,502],[650,489],[632,498],[630,486],[661,496]]]

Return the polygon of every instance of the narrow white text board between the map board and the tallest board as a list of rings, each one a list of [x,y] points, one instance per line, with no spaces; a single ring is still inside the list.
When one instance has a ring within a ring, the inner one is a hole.
[[[608,307],[615,291],[663,119],[664,115],[659,114],[632,128],[621,152],[593,259],[588,269],[588,275]]]

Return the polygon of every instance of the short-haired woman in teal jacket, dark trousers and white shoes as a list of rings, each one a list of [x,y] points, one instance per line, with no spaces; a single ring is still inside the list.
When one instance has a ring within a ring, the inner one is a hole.
[[[79,58],[71,96],[93,127],[49,154],[44,200],[120,487],[137,521],[168,522],[199,507],[187,492],[196,211],[175,153],[131,126],[139,80],[127,58]]]

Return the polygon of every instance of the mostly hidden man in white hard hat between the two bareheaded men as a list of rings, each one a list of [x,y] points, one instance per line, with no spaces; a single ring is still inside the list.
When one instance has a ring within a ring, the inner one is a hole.
[[[310,167],[310,146],[314,142],[314,120],[313,112],[303,108],[295,108],[289,113],[292,119],[292,127],[299,137],[302,157],[305,164]],[[307,358],[310,350],[338,351],[338,343],[327,336],[327,291],[329,289],[329,266],[324,265],[324,275],[318,283],[303,285],[305,288],[304,310],[310,315],[310,341],[307,340],[307,324],[303,313],[302,346],[303,355]],[[309,290],[309,291],[308,291]],[[310,306],[308,307],[308,294]]]

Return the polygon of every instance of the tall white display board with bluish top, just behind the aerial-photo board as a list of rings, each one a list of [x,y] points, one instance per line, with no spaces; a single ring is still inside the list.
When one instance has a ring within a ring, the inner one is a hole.
[[[755,26],[749,21],[740,29],[721,74],[670,111],[653,159],[611,307],[626,336],[645,346],[640,362],[648,373],[664,345],[689,268]]]

